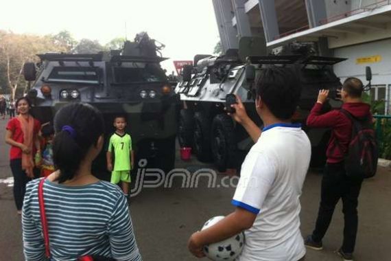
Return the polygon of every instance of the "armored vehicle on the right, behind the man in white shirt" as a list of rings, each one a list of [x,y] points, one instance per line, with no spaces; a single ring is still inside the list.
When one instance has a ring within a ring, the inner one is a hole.
[[[314,43],[291,43],[273,49],[270,55],[243,53],[240,49],[239,52],[229,49],[223,56],[197,55],[193,67],[183,69],[182,81],[175,89],[182,102],[178,124],[180,146],[193,148],[200,161],[213,161],[219,171],[239,168],[253,142],[244,128],[224,111],[226,96],[239,95],[248,115],[261,128],[263,124],[254,107],[253,83],[257,73],[268,65],[294,67],[302,93],[293,120],[302,124],[311,140],[311,165],[321,166],[330,133],[327,129],[308,128],[305,122],[319,89],[330,89],[333,98],[337,95],[342,84],[332,65],[346,59],[318,56]],[[340,105],[340,101],[331,99],[324,109]]]

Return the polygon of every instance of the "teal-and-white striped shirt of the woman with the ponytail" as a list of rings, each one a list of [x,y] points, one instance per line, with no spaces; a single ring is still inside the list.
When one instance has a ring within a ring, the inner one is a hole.
[[[25,260],[44,260],[38,183],[27,184],[23,203]],[[67,186],[46,180],[43,185],[49,228],[51,260],[77,260],[99,255],[115,260],[139,261],[128,204],[121,190],[106,181]]]

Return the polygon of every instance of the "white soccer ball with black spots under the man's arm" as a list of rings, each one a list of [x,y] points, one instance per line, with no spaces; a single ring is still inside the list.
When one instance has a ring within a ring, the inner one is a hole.
[[[201,230],[207,229],[222,220],[224,216],[215,216],[204,224]],[[241,232],[221,242],[204,245],[205,255],[213,261],[233,261],[243,249],[244,233]]]

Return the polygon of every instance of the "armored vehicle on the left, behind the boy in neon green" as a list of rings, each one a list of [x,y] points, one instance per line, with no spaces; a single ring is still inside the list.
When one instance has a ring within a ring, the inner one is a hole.
[[[51,122],[64,104],[87,102],[104,113],[108,132],[115,115],[126,115],[137,159],[174,168],[179,99],[160,65],[164,46],[156,45],[141,33],[108,53],[39,54],[38,72],[32,63],[24,68],[25,79],[34,81],[27,93],[34,115]]]

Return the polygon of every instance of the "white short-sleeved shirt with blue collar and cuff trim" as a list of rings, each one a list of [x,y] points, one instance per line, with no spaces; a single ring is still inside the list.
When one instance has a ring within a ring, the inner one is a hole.
[[[233,205],[257,214],[239,261],[297,261],[305,256],[300,195],[311,144],[300,124],[273,124],[241,166]]]

